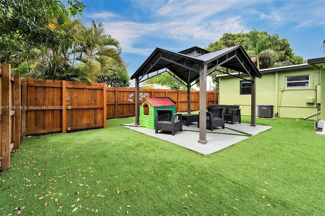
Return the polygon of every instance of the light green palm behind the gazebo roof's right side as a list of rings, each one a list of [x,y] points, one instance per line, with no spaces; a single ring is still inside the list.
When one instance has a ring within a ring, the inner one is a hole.
[[[249,33],[250,44],[247,45],[247,54],[256,62],[256,66],[259,69],[259,63],[261,59],[270,59],[270,61],[277,60],[279,55],[272,49],[273,46],[280,43],[279,35],[271,34],[267,32],[258,32],[253,29]]]

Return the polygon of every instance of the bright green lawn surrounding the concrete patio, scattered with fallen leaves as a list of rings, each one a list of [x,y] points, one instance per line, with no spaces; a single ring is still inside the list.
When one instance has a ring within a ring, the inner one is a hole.
[[[256,119],[273,128],[209,156],[131,122],[25,138],[0,176],[0,215],[325,215],[313,121]]]

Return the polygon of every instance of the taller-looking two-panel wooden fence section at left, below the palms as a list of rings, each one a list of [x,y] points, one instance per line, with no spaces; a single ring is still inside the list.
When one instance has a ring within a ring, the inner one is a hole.
[[[22,79],[22,136],[106,128],[106,86]]]

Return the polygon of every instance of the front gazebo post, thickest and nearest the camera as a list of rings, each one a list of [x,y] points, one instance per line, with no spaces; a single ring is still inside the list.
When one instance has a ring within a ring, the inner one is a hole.
[[[200,64],[200,138],[199,143],[207,141],[207,62]]]

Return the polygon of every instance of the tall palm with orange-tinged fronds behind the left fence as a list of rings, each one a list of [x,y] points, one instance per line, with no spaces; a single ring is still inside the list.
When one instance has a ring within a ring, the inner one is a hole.
[[[38,61],[29,76],[38,79],[71,80],[71,56],[74,48],[80,43],[83,32],[83,21],[75,19],[67,7],[60,13],[49,17],[48,38],[38,50]],[[37,77],[36,77],[37,75]]]

